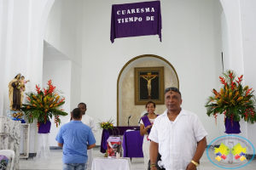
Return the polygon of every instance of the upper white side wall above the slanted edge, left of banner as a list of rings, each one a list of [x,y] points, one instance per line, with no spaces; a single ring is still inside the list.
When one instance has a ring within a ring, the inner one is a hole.
[[[44,41],[72,59],[82,62],[82,0],[56,0],[45,27]]]

